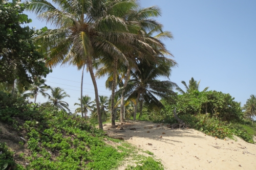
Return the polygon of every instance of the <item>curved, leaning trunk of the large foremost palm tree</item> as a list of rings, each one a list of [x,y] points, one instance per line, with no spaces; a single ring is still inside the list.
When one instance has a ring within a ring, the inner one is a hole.
[[[92,82],[93,82],[93,86],[94,86],[95,101],[96,101],[96,106],[97,106],[97,115],[98,115],[99,128],[103,129],[102,120],[101,120],[101,116],[100,116],[98,87],[97,87],[97,83],[96,83],[96,80],[95,80],[95,76],[94,76],[94,72],[93,72],[93,64],[92,64],[92,60],[91,59],[88,59],[88,68],[89,68],[89,72],[90,72],[90,75],[91,75],[91,78],[92,78]]]

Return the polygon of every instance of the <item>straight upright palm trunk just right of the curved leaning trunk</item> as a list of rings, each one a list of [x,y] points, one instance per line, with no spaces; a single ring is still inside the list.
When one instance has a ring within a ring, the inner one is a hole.
[[[113,70],[113,80],[112,80],[111,127],[116,127],[115,109],[114,109],[114,98],[115,98],[115,88],[116,88],[116,72],[117,72],[117,57],[114,58],[114,70]]]

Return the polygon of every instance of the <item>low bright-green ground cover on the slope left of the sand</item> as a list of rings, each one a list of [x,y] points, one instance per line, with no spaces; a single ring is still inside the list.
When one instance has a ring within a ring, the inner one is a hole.
[[[132,145],[105,136],[84,118],[56,107],[29,103],[3,92],[0,107],[0,122],[9,123],[25,139],[16,142],[29,150],[29,154],[19,155],[27,164],[16,164],[13,152],[1,143],[1,169],[115,169],[138,153]],[[117,147],[105,141],[115,142]],[[155,162],[147,157],[141,161],[147,159]]]

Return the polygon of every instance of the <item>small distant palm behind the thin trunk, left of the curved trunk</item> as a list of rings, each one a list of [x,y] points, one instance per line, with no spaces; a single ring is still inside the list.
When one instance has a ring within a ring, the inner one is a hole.
[[[80,98],[78,98],[78,100],[81,101]],[[94,101],[92,101],[92,102],[90,102],[90,101],[91,101],[91,98],[90,98],[88,95],[83,96],[83,97],[82,97],[82,101],[81,101],[81,103],[82,103],[82,108],[81,108],[81,104],[79,104],[79,103],[75,103],[75,104],[74,104],[74,106],[75,106],[75,105],[80,106],[80,107],[76,108],[75,114],[76,114],[76,113],[82,113],[82,117],[83,117],[83,113],[84,113],[84,117],[86,118],[86,117],[87,117],[88,110],[92,110],[93,107],[94,107]]]

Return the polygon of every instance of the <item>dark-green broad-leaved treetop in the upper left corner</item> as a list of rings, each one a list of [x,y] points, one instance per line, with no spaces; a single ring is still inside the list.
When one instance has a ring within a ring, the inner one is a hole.
[[[36,31],[20,26],[32,21],[23,14],[26,6],[16,1],[0,3],[0,82],[18,79],[23,85],[31,84],[33,78],[50,72],[32,42]]]

